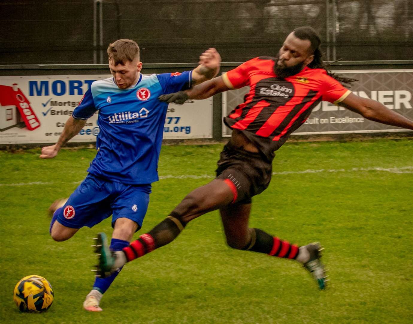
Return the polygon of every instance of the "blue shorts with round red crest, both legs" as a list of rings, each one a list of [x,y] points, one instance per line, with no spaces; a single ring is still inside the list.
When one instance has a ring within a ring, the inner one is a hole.
[[[151,185],[128,185],[89,173],[58,211],[57,221],[70,228],[92,227],[112,215],[112,227],[126,217],[142,227]]]

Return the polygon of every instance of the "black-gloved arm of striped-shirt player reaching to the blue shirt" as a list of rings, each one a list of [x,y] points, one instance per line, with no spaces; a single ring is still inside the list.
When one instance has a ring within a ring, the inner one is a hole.
[[[216,77],[212,80],[208,80],[192,87],[185,91],[178,91],[173,94],[163,94],[159,96],[160,101],[167,103],[178,103],[182,105],[188,99],[206,99],[219,92],[230,90],[223,81],[222,76]]]

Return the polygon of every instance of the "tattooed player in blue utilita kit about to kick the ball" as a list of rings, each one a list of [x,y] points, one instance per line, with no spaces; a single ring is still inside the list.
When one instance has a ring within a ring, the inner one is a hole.
[[[54,158],[99,111],[97,154],[85,180],[69,199],[57,200],[50,207],[50,235],[55,241],[68,240],[81,227],[92,227],[112,215],[110,248],[120,251],[129,246],[133,234],[142,227],[151,183],[159,180],[157,164],[168,103],[158,97],[212,79],[218,74],[221,57],[209,48],[192,71],[147,76],[140,73],[142,62],[135,41],[119,39],[109,45],[107,53],[113,77],[92,83],[57,143],[43,147],[40,158]],[[119,271],[95,279],[83,302],[85,310],[102,311],[102,294]]]

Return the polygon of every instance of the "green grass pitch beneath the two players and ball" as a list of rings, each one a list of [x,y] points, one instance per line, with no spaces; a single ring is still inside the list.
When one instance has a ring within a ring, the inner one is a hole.
[[[223,144],[163,146],[161,180],[140,233],[190,190],[209,182]],[[411,323],[413,150],[411,139],[285,144],[270,187],[254,197],[250,225],[304,245],[320,241],[330,287],[319,291],[297,262],[225,245],[217,211],[171,244],[127,264],[103,312],[82,302],[93,283],[92,238],[110,218],[66,242],[48,233],[46,210],[85,177],[94,149],[0,151],[1,323]],[[55,301],[22,314],[17,281],[47,278]]]

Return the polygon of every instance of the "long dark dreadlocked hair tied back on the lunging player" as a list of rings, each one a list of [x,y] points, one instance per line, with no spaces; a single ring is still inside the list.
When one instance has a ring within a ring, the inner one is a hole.
[[[334,62],[330,63],[325,63],[323,60],[323,53],[321,53],[320,50],[320,36],[318,36],[317,31],[313,29],[313,27],[310,26],[303,26],[303,27],[298,27],[294,29],[294,36],[301,40],[309,40],[311,43],[311,50],[313,51],[313,61],[308,65],[308,67],[311,67],[312,69],[324,69],[327,71],[327,74],[330,75],[330,77],[336,79],[338,82],[341,84],[346,84],[351,86],[351,84],[355,81],[358,81],[357,79],[352,79],[352,78],[346,78],[342,77],[341,75],[337,73],[333,73],[330,70],[330,65],[332,65],[335,62],[338,62],[341,60],[336,60]]]

